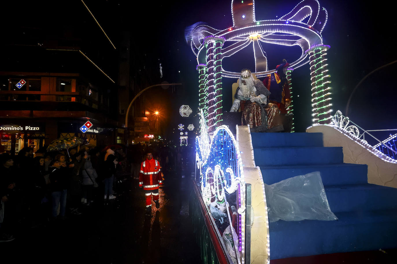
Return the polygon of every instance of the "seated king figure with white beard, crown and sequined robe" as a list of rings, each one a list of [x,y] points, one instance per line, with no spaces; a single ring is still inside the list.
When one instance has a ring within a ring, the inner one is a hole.
[[[241,124],[250,125],[251,132],[283,131],[279,108],[268,102],[269,95],[260,80],[254,79],[249,70],[242,70],[230,112],[238,112],[241,107]]]

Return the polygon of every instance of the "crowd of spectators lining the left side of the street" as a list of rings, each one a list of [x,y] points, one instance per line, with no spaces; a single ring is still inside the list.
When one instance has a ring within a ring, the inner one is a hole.
[[[15,239],[18,225],[57,225],[65,217],[80,215],[85,206],[116,199],[115,183],[138,179],[145,148],[111,145],[33,154],[32,148],[24,147],[16,156],[0,154],[0,241]],[[187,156],[181,148],[150,148],[163,171],[180,170]]]

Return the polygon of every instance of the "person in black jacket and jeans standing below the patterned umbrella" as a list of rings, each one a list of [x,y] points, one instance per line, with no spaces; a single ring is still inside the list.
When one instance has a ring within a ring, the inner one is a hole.
[[[48,169],[50,170],[50,190],[52,198],[52,218],[56,218],[58,206],[60,204],[61,218],[65,217],[67,185],[69,184],[69,173],[62,163],[53,160]]]

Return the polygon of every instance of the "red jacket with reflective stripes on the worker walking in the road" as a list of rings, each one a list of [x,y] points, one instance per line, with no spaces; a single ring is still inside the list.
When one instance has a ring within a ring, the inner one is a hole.
[[[143,161],[139,173],[139,186],[143,186],[144,190],[155,190],[162,184],[160,163],[155,159]]]

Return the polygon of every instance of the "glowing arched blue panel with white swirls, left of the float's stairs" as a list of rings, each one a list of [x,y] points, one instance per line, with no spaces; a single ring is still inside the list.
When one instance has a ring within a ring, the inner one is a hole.
[[[224,203],[225,192],[237,195],[238,251],[243,253],[242,223],[245,222],[245,181],[239,146],[225,125],[219,126],[210,140],[202,110],[200,127],[201,135],[196,137],[195,144],[203,201],[209,206],[210,203]]]

